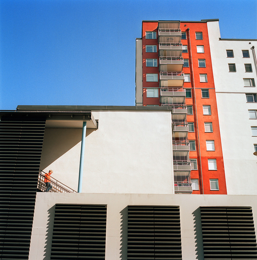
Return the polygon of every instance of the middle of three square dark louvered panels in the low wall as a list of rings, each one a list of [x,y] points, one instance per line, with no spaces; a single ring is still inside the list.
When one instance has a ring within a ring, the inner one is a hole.
[[[182,259],[178,206],[128,206],[128,260]]]

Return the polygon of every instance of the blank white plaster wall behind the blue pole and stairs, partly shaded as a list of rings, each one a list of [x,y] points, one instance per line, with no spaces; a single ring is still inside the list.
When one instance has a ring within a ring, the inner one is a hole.
[[[78,188],[82,129],[46,129],[41,170]],[[170,111],[100,111],[87,129],[82,192],[174,193]]]

